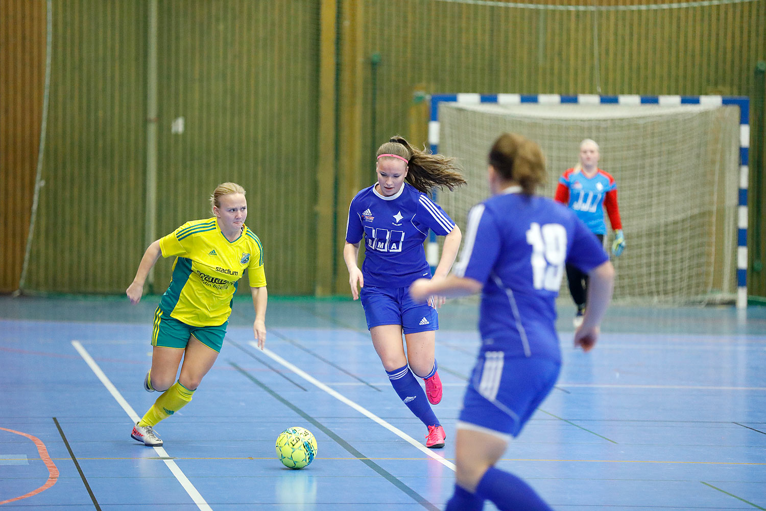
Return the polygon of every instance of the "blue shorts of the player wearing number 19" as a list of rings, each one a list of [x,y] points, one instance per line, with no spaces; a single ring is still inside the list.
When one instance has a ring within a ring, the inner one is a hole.
[[[473,367],[460,421],[516,437],[550,393],[561,364],[485,352]]]

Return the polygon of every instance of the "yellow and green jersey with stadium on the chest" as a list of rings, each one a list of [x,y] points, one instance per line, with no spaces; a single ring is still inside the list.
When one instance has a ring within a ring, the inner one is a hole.
[[[244,270],[251,287],[264,287],[264,251],[247,226],[228,241],[215,217],[186,222],[159,240],[162,257],[176,256],[159,309],[192,326],[218,326],[231,315],[237,281]]]

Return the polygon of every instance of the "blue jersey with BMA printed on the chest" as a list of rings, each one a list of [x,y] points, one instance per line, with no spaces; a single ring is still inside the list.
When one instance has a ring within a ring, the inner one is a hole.
[[[447,213],[409,183],[391,197],[373,185],[352,199],[345,241],[357,244],[365,238],[365,286],[406,287],[430,277],[423,247],[428,229],[444,236],[453,228]]]

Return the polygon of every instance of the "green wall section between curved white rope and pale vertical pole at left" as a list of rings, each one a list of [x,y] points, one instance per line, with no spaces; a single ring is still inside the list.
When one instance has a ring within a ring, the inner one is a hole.
[[[115,293],[133,279],[143,226],[144,6],[53,2],[44,186],[25,289]]]

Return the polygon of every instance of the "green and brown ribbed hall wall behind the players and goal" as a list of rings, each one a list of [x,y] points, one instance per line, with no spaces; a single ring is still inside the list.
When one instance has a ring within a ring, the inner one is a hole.
[[[374,180],[375,146],[394,134],[426,142],[424,95],[751,96],[766,1],[662,3],[158,2],[158,235],[205,218],[219,182],[241,182],[272,293],[345,294],[349,201]],[[146,247],[150,3],[51,4],[45,185],[25,290],[122,293]],[[29,225],[45,5],[0,2],[2,292],[18,287]],[[762,127],[752,137],[763,143]],[[155,290],[168,277],[163,261]]]

